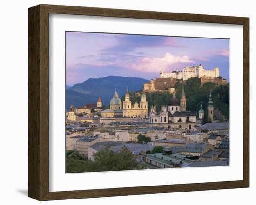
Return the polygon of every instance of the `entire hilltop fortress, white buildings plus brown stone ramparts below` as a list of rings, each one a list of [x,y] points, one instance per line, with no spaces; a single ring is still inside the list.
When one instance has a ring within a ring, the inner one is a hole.
[[[177,81],[186,81],[191,77],[198,77],[201,81],[201,87],[204,83],[211,82],[217,86],[227,84],[227,80],[220,77],[218,67],[213,70],[205,70],[200,64],[199,66],[187,66],[183,71],[172,71],[171,73],[160,72],[160,78],[151,79],[149,83],[144,83],[143,88],[146,92],[174,92],[174,86]]]

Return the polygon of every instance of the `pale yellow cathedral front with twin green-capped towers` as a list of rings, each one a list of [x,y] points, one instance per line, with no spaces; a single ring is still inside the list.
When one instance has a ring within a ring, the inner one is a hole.
[[[148,102],[146,101],[146,94],[144,92],[141,95],[140,105],[137,101],[132,105],[128,88],[126,89],[123,101],[123,117],[148,118]]]

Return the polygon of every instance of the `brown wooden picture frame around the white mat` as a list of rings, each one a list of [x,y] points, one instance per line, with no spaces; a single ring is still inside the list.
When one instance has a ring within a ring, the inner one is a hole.
[[[49,14],[243,25],[243,180],[49,192]],[[108,8],[38,5],[29,8],[29,190],[37,200],[79,199],[249,187],[249,18]]]

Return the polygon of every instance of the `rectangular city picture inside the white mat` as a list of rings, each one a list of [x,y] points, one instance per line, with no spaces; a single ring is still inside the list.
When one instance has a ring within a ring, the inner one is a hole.
[[[230,39],[65,35],[66,173],[229,166]]]

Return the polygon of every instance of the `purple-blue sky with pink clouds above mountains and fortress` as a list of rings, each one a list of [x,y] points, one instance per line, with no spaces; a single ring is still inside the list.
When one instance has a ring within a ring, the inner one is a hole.
[[[67,85],[88,78],[160,76],[202,64],[229,81],[229,40],[66,32]]]

